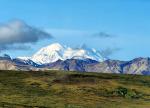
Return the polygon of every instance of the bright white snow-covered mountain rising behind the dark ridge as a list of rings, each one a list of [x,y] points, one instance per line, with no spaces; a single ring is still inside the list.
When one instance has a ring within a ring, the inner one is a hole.
[[[31,60],[37,64],[52,63],[57,60],[67,59],[92,59],[96,61],[103,61],[104,58],[101,56],[99,51],[89,48],[71,48],[54,43],[49,46],[41,48],[35,53]]]

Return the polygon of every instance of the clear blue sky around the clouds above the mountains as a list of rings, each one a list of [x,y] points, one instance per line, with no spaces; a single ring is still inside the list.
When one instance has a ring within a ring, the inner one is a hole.
[[[97,50],[119,49],[110,58],[150,57],[149,0],[0,0],[0,23],[19,19],[50,33],[53,39],[29,44],[29,50],[7,50],[13,57],[31,56],[54,42]],[[100,32],[110,37],[95,37]],[[112,36],[111,36],[112,35]]]

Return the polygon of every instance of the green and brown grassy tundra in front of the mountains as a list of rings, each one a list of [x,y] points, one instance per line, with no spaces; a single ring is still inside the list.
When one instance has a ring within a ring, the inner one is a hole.
[[[0,71],[0,108],[150,108],[150,76]]]

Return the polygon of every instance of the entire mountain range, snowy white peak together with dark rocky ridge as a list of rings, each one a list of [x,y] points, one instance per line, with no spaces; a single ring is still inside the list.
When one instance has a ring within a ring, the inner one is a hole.
[[[41,48],[32,57],[11,58],[4,54],[0,57],[0,70],[65,70],[150,75],[150,58],[111,60],[104,58],[99,51],[85,46],[71,48],[54,43]]]

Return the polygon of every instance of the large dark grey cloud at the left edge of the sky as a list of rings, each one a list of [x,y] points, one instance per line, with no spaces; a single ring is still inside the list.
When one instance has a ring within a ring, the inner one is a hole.
[[[21,20],[0,24],[0,50],[7,50],[7,48],[10,49],[10,47],[14,49],[24,49],[25,46],[21,44],[34,43],[45,38],[52,38],[52,36]],[[19,44],[19,46],[14,47],[13,44]]]

